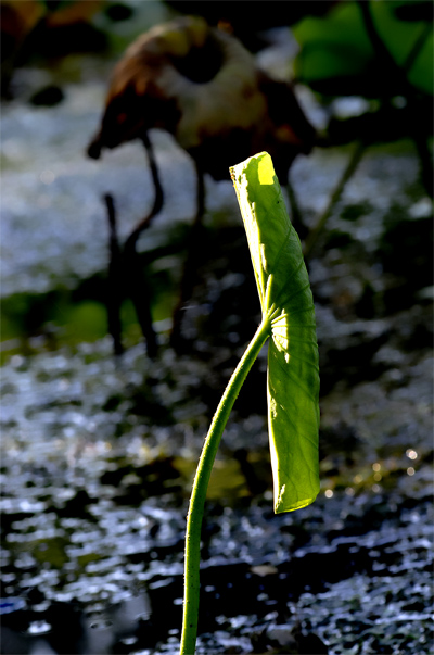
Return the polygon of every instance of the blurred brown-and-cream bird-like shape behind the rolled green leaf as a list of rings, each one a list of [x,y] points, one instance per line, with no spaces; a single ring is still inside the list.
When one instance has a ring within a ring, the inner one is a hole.
[[[217,180],[228,179],[230,165],[266,150],[283,184],[294,158],[307,154],[316,137],[292,87],[260,71],[233,36],[193,16],[153,27],[116,65],[101,128],[88,148],[93,159],[104,148],[133,139],[141,139],[146,149],[155,202],[128,238],[128,255],[135,253],[138,237],[163,205],[148,134],[152,128],[171,134],[194,161],[195,225],[204,211],[204,173]]]

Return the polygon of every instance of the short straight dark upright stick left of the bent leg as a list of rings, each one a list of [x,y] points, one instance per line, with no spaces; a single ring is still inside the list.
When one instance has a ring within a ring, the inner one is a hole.
[[[115,355],[122,355],[124,347],[122,343],[120,305],[123,301],[122,280],[122,256],[116,232],[116,214],[113,197],[106,193],[104,202],[107,207],[110,228],[110,262],[107,279],[107,322],[108,332],[113,339]]]

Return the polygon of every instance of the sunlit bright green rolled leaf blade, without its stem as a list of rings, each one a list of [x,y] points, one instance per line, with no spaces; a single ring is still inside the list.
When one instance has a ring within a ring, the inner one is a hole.
[[[268,153],[231,168],[255,272],[263,322],[270,327],[268,426],[275,512],[319,492],[319,369],[314,300],[298,236]]]

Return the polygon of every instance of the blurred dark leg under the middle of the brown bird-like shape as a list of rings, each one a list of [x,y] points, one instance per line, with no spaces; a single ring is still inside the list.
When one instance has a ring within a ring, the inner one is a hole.
[[[174,312],[174,324],[170,333],[170,344],[178,354],[181,354],[181,352],[184,350],[184,341],[181,337],[182,312],[186,302],[191,299],[194,289],[197,259],[201,252],[202,219],[205,212],[204,174],[199,164],[196,162],[194,162],[194,164],[197,177],[196,214],[194,216],[193,225],[189,235],[187,259],[182,272],[179,300]]]

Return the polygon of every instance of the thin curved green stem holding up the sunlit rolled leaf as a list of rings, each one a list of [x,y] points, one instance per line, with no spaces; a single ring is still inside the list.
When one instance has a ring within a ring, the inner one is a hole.
[[[183,622],[180,655],[194,655],[195,652],[200,594],[201,528],[214,459],[233,403],[269,333],[270,318],[266,316],[229,380],[214,415],[199,461],[187,517]]]

